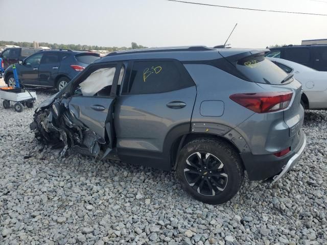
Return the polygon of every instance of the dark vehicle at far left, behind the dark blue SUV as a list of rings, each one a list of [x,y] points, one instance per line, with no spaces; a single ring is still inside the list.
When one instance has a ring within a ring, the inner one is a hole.
[[[4,69],[7,69],[11,64],[17,63],[26,57],[40,51],[39,48],[32,47],[9,47],[6,48],[0,55],[4,61]]]

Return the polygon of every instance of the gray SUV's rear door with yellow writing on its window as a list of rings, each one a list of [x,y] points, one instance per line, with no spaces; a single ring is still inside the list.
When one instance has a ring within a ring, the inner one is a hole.
[[[130,63],[115,102],[120,159],[169,169],[174,140],[190,132],[196,86],[176,60]]]

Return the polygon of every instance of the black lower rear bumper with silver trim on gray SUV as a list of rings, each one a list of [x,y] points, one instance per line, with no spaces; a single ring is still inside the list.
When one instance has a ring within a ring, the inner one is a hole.
[[[273,182],[281,179],[297,162],[306,146],[306,136],[302,130],[300,140],[290,153],[283,157],[273,154],[253,155],[252,153],[241,153],[249,180],[259,181],[272,179]]]

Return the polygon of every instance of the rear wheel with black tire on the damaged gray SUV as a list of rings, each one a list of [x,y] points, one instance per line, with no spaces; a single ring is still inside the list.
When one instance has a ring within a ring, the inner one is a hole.
[[[199,160],[198,153],[203,160],[202,167],[200,161],[196,163]],[[242,186],[244,168],[241,158],[232,146],[222,140],[211,138],[192,140],[182,148],[178,159],[176,171],[182,187],[203,203],[225,203]],[[186,160],[189,163],[186,163]],[[201,182],[203,184],[200,188]]]

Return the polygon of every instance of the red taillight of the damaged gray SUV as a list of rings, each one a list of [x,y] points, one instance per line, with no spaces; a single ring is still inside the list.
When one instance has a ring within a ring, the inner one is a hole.
[[[293,92],[236,93],[229,98],[256,113],[266,113],[288,107],[292,95]]]

